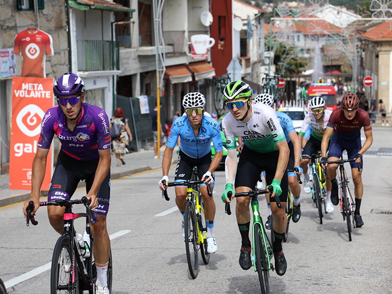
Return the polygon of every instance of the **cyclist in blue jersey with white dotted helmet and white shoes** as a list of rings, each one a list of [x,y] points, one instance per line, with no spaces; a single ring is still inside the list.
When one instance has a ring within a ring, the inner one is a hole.
[[[211,184],[213,191],[215,169],[219,166],[223,155],[221,128],[219,123],[211,117],[204,115],[204,95],[198,92],[188,93],[182,100],[186,116],[177,118],[172,123],[172,129],[168,138],[162,159],[163,177],[159,181],[161,190],[166,190],[169,182],[169,169],[172,164],[172,154],[178,137],[180,138],[181,150],[178,153],[178,163],[175,170],[174,181],[181,182],[192,176],[192,169],[197,167],[199,179],[205,179],[205,183]],[[215,147],[215,156],[211,160],[211,141]],[[206,178],[208,176],[208,178]],[[166,186],[162,181],[166,180]],[[213,197],[208,196],[205,184],[200,186],[200,193],[205,204],[205,219],[207,222],[207,252],[215,253],[218,249],[214,238],[215,202]],[[181,212],[182,235],[185,237],[184,216],[187,202],[187,187],[175,187],[175,203]]]

